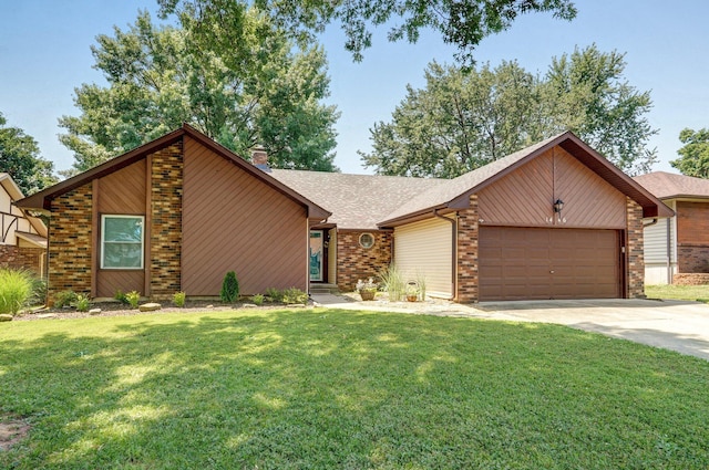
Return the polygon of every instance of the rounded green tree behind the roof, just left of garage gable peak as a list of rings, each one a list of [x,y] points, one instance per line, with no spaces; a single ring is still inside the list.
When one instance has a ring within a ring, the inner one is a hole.
[[[360,153],[378,174],[452,178],[542,138],[538,80],[516,62],[463,72],[429,65],[427,87],[408,87],[391,123]]]

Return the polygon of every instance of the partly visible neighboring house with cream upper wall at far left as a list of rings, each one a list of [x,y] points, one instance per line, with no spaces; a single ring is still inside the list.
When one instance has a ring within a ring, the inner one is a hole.
[[[12,177],[0,173],[0,265],[44,275],[47,227],[14,205],[24,196]]]

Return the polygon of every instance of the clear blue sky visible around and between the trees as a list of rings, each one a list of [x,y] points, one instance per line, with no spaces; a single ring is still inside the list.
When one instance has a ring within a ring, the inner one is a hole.
[[[603,52],[625,53],[625,77],[638,91],[649,91],[647,115],[659,130],[649,143],[657,148],[654,170],[677,173],[669,161],[681,147],[679,132],[709,128],[709,2],[706,0],[576,0],[571,22],[548,13],[520,17],[512,28],[484,39],[475,51],[479,63],[492,66],[516,60],[543,74],[552,58],[595,43]],[[8,125],[34,137],[41,155],[56,170],[71,167],[73,156],[58,135],[58,119],[79,115],[74,88],[105,84],[91,45],[113,27],[126,30],[140,9],[157,11],[156,0],[0,0],[0,113]],[[156,15],[154,15],[156,19]],[[169,21],[169,20],[168,20]],[[330,25],[320,36],[329,61],[331,95],[341,117],[336,126],[335,164],[345,173],[367,174],[357,150],[370,152],[374,123],[391,118],[405,97],[407,85],[422,87],[423,72],[435,60],[452,63],[455,49],[435,32],[417,44],[390,43],[386,30],[374,30],[364,60],[352,62],[343,35]]]

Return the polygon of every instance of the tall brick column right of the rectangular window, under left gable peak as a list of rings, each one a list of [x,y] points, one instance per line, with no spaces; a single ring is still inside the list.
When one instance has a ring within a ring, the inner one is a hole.
[[[182,290],[182,143],[152,155],[151,297],[171,299]]]

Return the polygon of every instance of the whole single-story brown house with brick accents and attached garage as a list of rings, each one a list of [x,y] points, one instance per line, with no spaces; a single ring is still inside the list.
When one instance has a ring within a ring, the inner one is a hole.
[[[235,270],[247,294],[351,290],[394,261],[459,302],[639,297],[643,219],[672,216],[571,133],[451,180],[255,156],[185,125],[24,199],[51,212],[50,289],[217,295]]]

